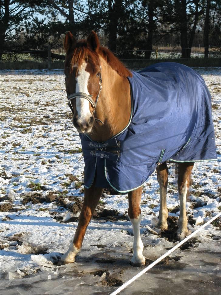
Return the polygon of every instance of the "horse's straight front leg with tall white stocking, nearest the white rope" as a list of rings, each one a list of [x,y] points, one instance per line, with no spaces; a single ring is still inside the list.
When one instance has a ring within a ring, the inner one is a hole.
[[[133,245],[133,257],[131,259],[132,266],[145,265],[145,258],[142,254],[144,245],[140,236],[140,223],[141,223],[141,193],[142,187],[128,193],[128,215],[132,223],[134,232],[134,245]]]

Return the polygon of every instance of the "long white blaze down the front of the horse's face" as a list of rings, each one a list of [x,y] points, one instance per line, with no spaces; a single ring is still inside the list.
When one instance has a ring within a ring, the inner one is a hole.
[[[76,78],[76,92],[83,92],[89,95],[89,92],[87,90],[87,83],[90,77],[90,73],[85,70],[86,67],[87,63],[83,62],[78,69],[78,74]],[[79,124],[83,124],[84,122],[90,121],[90,117],[92,115],[90,113],[89,104],[90,102],[87,99],[83,99],[80,97],[76,98],[76,109]]]

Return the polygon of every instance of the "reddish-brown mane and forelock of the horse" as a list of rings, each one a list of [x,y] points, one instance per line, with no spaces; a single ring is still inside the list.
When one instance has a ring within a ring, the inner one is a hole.
[[[80,40],[77,42],[77,45],[73,50],[71,67],[73,68],[75,64],[80,65],[83,61],[90,61],[97,66],[99,55],[103,57],[107,64],[109,64],[113,70],[117,71],[120,76],[132,77],[131,71],[129,71],[109,49],[100,46],[97,51],[93,51],[87,46],[86,40]]]

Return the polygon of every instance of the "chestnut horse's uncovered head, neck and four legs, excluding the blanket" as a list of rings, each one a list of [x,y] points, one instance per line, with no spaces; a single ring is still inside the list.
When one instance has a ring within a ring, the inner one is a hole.
[[[131,116],[131,92],[128,77],[131,71],[107,49],[100,46],[95,32],[87,40],[76,41],[68,32],[64,40],[66,51],[65,82],[69,106],[73,112],[73,124],[81,134],[89,134],[95,142],[105,142],[123,130]],[[102,73],[102,78],[101,78]],[[102,85],[102,89],[101,89]],[[99,98],[99,101],[98,101]],[[119,99],[121,98],[121,99]],[[124,114],[119,116],[119,114]],[[178,239],[187,233],[185,202],[190,185],[194,162],[178,164],[178,191],[180,215],[178,218]],[[97,176],[95,176],[97,177]],[[157,166],[157,180],[160,186],[160,211],[158,227],[166,230],[168,210],[166,191],[168,168],[166,162]],[[68,251],[62,255],[59,264],[75,262],[83,238],[102,193],[94,184],[84,189],[83,207],[77,230]],[[143,243],[140,237],[142,187],[128,193],[128,215],[134,232],[132,266],[143,266]]]

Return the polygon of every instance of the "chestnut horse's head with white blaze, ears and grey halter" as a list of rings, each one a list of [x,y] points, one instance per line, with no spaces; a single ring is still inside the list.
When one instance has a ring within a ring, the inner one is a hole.
[[[81,133],[90,132],[94,124],[94,110],[102,82],[99,47],[94,31],[87,40],[77,42],[70,32],[64,39],[66,92],[74,115],[73,124]]]

